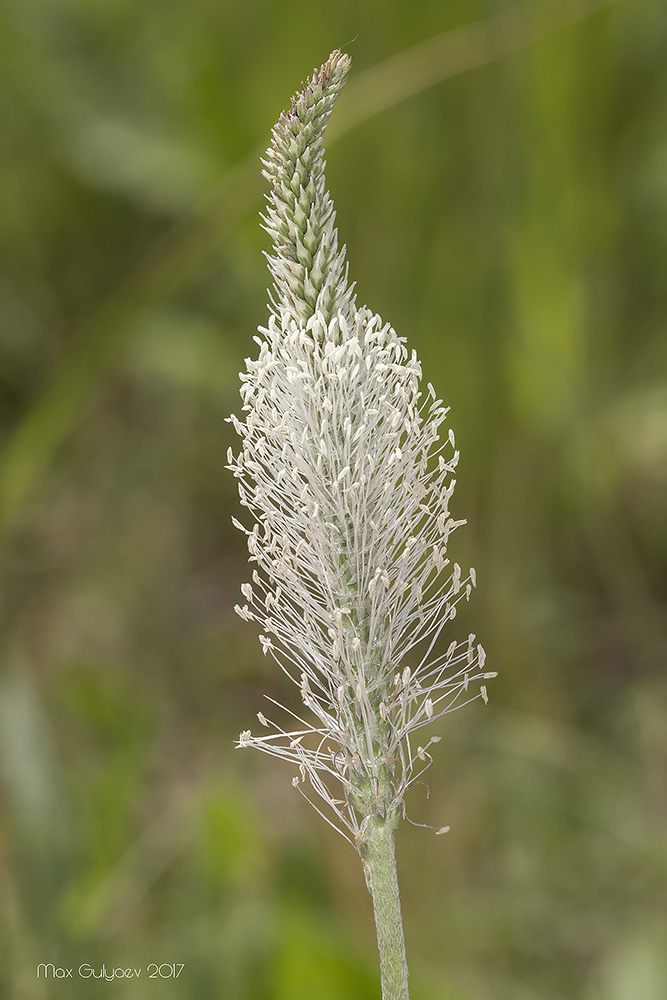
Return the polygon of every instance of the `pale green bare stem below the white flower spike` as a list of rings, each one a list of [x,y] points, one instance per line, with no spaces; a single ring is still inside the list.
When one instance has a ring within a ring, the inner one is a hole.
[[[409,1000],[408,965],[396,875],[394,828],[371,817],[361,852],[366,884],[373,899],[380,952],[383,1000]]]

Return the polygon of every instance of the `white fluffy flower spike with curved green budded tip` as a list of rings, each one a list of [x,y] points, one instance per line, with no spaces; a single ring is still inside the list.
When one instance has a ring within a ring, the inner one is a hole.
[[[299,687],[303,718],[261,712],[254,746],[296,765],[293,784],[357,846],[368,819],[394,825],[431,761],[415,734],[482,697],[485,653],[437,640],[475,572],[447,557],[459,453],[447,408],[404,338],[356,308],[325,190],[322,135],[349,67],[332,54],[273,133],[265,225],[273,311],[241,375],[242,439],[229,468],[254,518],[252,583],[237,613],[261,627]],[[272,699],[269,699],[272,700]],[[309,789],[322,800],[316,805]]]

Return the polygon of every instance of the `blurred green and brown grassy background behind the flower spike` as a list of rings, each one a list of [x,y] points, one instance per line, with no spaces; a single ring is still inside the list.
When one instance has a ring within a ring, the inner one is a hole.
[[[334,47],[341,237],[452,406],[500,672],[409,802],[451,833],[399,830],[414,1000],[664,1000],[664,0],[1,0],[3,995],[379,997],[356,855],[232,743],[292,697],[232,612],[259,155]]]

